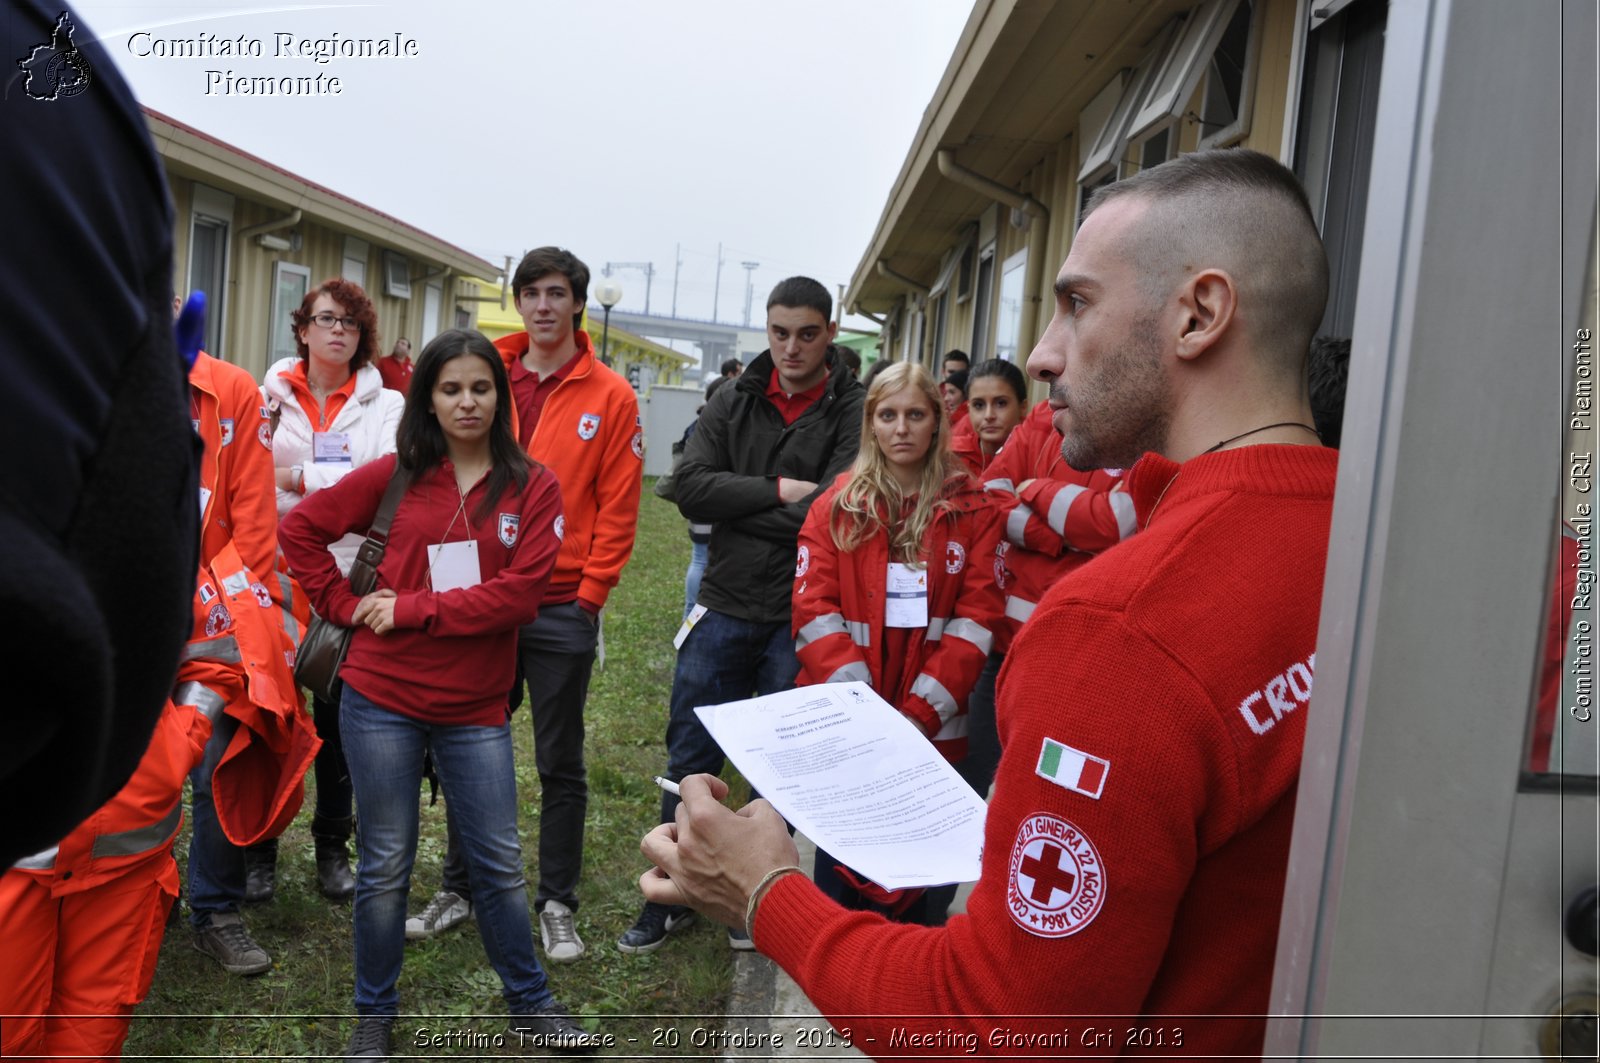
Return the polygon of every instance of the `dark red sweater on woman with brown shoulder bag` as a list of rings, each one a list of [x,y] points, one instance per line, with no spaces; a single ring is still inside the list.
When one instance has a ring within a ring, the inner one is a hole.
[[[317,613],[334,623],[349,624],[360,599],[339,576],[328,544],[371,528],[394,467],[394,455],[368,461],[333,487],[307,495],[278,528],[290,570]],[[458,515],[461,495],[454,469],[445,461],[400,499],[378,567],[378,588],[398,592],[395,631],[376,636],[365,624],[357,628],[339,672],[373,703],[430,724],[506,722],[506,692],[517,671],[517,628],[539,615],[560,549],[555,525],[562,491],[555,477],[536,466],[522,493],[507,490],[488,515],[478,517],[486,491],[488,477],[467,491],[466,514]],[[429,544],[469,538],[478,544],[483,581],[435,594]]]

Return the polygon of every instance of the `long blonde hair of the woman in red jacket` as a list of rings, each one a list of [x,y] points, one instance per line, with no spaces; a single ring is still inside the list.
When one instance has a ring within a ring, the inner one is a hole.
[[[933,416],[938,418],[938,424],[933,429],[928,455],[923,458],[922,479],[915,491],[917,501],[901,520],[898,517],[906,504],[906,491],[890,472],[888,459],[878,448],[878,440],[872,434],[872,418],[885,399],[906,389],[922,394],[933,410]],[[950,509],[950,495],[970,479],[966,466],[950,453],[950,423],[944,415],[939,386],[933,375],[912,362],[890,365],[872,379],[872,386],[867,389],[867,402],[861,415],[861,450],[856,453],[850,480],[834,496],[829,514],[834,546],[853,551],[882,528],[890,536],[890,557],[915,564],[922,556],[923,535],[939,514]],[[893,523],[886,523],[885,519]]]

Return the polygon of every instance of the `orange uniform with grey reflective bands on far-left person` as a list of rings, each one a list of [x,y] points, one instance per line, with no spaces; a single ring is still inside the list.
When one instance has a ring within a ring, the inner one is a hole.
[[[242,720],[216,775],[219,818],[235,840],[282,831],[315,754],[291,672],[306,607],[275,567],[259,392],[248,373],[202,354],[190,395],[205,442],[194,634],[123,789],[58,845],[0,874],[0,1057],[120,1053],[178,897],[171,850],[184,778],[221,712]]]

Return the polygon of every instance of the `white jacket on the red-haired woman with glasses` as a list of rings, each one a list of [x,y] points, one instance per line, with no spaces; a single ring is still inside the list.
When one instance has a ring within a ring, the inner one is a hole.
[[[261,383],[261,397],[267,403],[267,415],[277,413],[277,431],[272,435],[272,464],[278,469],[301,466],[306,475],[306,493],[338,483],[352,469],[357,469],[373,458],[392,455],[395,451],[395,432],[400,427],[400,411],[405,410],[405,395],[398,391],[386,391],[384,378],[371,365],[363,365],[355,371],[355,395],[344,403],[330,432],[349,432],[352,464],[317,464],[312,461],[312,424],[301,410],[294,391],[280,373],[290,373],[299,365],[298,357],[280,359],[267,368]],[[299,503],[301,495],[278,488],[278,517],[282,519]],[[349,575],[355,551],[360,549],[365,535],[347,535],[333,546],[339,572]]]

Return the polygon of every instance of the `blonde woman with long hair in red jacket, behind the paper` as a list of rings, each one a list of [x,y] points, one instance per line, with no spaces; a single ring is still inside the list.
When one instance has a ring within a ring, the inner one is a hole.
[[[994,581],[1003,511],[950,453],[949,437],[925,368],[877,375],[856,464],[800,530],[794,634],[798,684],[870,682],[958,760],[966,696],[1003,608]],[[814,879],[850,908],[922,921],[920,892],[885,895],[821,850]]]

